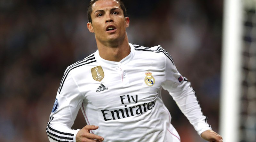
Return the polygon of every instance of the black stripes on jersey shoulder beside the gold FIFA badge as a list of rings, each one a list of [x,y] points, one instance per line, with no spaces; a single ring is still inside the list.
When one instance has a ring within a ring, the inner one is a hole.
[[[94,54],[93,54],[92,56],[88,56],[88,57],[84,58],[84,59],[81,60],[81,61],[76,62],[75,64],[72,64],[72,65],[65,71],[64,76],[63,76],[62,79],[61,79],[60,87],[59,87],[59,93],[60,93],[60,91],[61,91],[61,89],[62,89],[62,87],[63,87],[63,84],[64,84],[64,82],[65,82],[67,76],[68,76],[68,73],[69,73],[71,70],[73,70],[73,69],[75,69],[75,68],[77,68],[77,67],[80,67],[80,66],[82,66],[82,65],[85,65],[85,64],[91,64],[91,63],[93,63],[93,62],[96,62],[96,59],[95,59],[95,57],[94,57]]]

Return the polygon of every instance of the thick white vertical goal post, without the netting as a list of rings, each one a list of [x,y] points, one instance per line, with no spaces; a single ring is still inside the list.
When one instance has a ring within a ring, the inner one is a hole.
[[[227,142],[239,141],[242,1],[224,0],[219,128],[223,141]]]

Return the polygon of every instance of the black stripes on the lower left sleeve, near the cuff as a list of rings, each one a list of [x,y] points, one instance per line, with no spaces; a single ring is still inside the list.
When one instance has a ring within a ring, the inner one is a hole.
[[[59,136],[59,135],[56,135],[56,134],[53,134],[51,133],[49,130],[51,131],[54,131],[54,132],[57,132],[61,135],[68,135],[68,136],[71,136],[71,137],[63,137],[63,136]],[[73,142],[73,136],[74,134],[71,134],[71,133],[64,133],[64,132],[60,132],[60,131],[57,131],[53,128],[50,127],[50,125],[48,124],[47,127],[46,127],[46,133],[47,133],[47,136],[52,138],[53,140],[55,141],[58,141],[58,142]],[[58,139],[57,139],[58,138]],[[61,141],[60,139],[65,139],[65,141]]]

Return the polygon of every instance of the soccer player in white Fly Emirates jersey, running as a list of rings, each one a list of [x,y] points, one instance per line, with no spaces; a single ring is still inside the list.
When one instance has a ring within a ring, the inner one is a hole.
[[[66,69],[46,128],[51,142],[180,142],[161,88],[202,138],[222,141],[172,56],[161,46],[128,42],[129,18],[121,0],[91,0],[88,19],[98,50]],[[80,108],[88,125],[72,130]]]

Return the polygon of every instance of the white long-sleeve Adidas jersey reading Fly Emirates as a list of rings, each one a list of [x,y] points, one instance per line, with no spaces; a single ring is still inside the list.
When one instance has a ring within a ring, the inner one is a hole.
[[[79,130],[71,126],[80,108],[88,125],[99,126],[91,133],[106,142],[180,141],[161,98],[162,88],[199,135],[211,129],[172,57],[161,46],[129,45],[131,53],[120,62],[104,60],[97,50],[66,69],[46,128],[51,142],[76,141]]]

